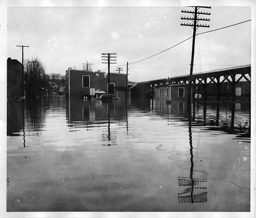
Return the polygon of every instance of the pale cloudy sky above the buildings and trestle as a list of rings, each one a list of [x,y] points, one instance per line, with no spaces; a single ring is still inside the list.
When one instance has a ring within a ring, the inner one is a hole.
[[[102,5],[8,5],[7,57],[21,62],[22,49],[17,45],[28,45],[29,48],[24,48],[24,59],[38,57],[47,74],[64,75],[69,67],[82,70],[86,61],[93,64],[94,71],[107,71],[107,64],[101,63],[101,53],[116,53],[117,61],[111,65],[111,72],[117,72],[117,67],[120,67],[122,73],[126,73],[128,62],[128,79],[131,81],[189,74],[193,29],[180,24],[184,22],[181,17],[193,16],[181,11],[193,8],[177,7],[179,4],[162,7],[153,7],[152,4],[150,7],[146,7],[147,4],[114,7],[114,4],[109,4],[108,7],[99,7]],[[210,27],[199,27],[197,33],[251,19],[251,7],[227,5],[199,9],[211,15],[199,16],[210,18],[210,21],[200,22]],[[252,22],[248,21],[197,35],[193,72],[251,64],[251,25]],[[148,58],[155,54],[158,55]],[[145,58],[148,59],[143,60]]]

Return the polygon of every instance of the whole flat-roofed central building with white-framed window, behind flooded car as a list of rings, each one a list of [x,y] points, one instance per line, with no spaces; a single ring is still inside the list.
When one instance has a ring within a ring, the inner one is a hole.
[[[65,90],[71,98],[91,98],[90,91],[96,91],[93,98],[98,97],[100,92],[108,93],[108,73],[99,71],[84,71],[68,68],[66,71]],[[99,91],[101,90],[101,91]],[[126,74],[110,73],[110,93],[121,99],[126,98]],[[127,92],[130,98],[130,89]]]

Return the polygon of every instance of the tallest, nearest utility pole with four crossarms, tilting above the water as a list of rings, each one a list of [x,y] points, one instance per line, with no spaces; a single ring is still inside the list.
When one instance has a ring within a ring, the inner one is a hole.
[[[181,11],[182,13],[191,13],[192,15],[194,15],[194,17],[181,17],[182,20],[191,20],[193,21],[194,23],[193,24],[188,24],[188,23],[184,23],[184,24],[180,24],[181,26],[191,26],[193,27],[193,42],[192,42],[192,55],[191,55],[191,64],[190,64],[190,79],[189,79],[189,88],[188,88],[188,104],[189,104],[189,108],[190,108],[190,100],[191,100],[191,86],[192,86],[192,79],[191,79],[191,76],[193,74],[193,65],[194,65],[194,52],[195,52],[195,38],[196,38],[196,30],[198,27],[210,27],[209,25],[202,25],[202,24],[198,24],[198,21],[210,21],[210,18],[209,19],[205,19],[205,18],[197,18],[197,16],[199,14],[204,14],[204,15],[211,15],[211,13],[208,13],[208,12],[200,12],[200,11],[197,11],[198,9],[200,8],[211,8],[211,7],[207,7],[207,6],[196,6],[195,7],[195,11]]]

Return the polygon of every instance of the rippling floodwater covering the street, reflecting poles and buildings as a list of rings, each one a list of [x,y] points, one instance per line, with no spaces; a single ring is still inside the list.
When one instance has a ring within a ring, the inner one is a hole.
[[[250,211],[250,103],[8,102],[7,211]]]

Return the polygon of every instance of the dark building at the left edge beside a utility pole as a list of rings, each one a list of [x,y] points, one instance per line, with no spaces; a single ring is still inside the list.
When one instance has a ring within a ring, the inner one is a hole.
[[[18,100],[22,94],[22,64],[16,59],[7,59],[7,99]]]

